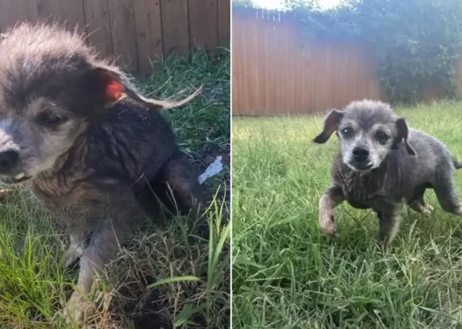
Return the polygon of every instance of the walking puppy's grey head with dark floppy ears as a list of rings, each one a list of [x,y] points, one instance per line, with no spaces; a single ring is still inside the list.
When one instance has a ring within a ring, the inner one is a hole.
[[[356,172],[379,167],[401,141],[407,153],[415,155],[407,142],[405,120],[396,118],[391,107],[382,102],[353,102],[344,111],[330,111],[324,120],[323,132],[314,142],[325,143],[333,132],[339,138],[344,164]]]

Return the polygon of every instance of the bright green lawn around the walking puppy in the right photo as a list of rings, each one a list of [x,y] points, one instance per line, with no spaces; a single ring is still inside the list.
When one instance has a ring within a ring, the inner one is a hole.
[[[398,109],[462,160],[462,103]],[[393,246],[377,245],[372,211],[335,209],[339,237],[318,226],[335,136],[311,140],[322,118],[234,118],[232,316],[234,328],[462,328],[462,218],[403,205]],[[462,197],[462,171],[456,172]]]

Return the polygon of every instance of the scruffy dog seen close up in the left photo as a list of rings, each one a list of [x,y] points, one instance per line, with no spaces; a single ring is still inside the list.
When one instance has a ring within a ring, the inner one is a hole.
[[[24,183],[69,225],[68,265],[80,258],[66,309],[82,321],[94,277],[127,229],[144,219],[151,186],[202,209],[197,173],[159,109],[80,35],[22,24],[0,41],[0,181]],[[144,195],[143,198],[138,198]],[[147,202],[146,202],[147,201]],[[87,314],[88,315],[88,314]]]

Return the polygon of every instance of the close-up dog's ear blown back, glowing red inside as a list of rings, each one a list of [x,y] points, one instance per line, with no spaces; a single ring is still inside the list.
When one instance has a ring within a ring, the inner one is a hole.
[[[124,97],[130,97],[137,102],[145,104],[150,109],[172,109],[190,102],[191,99],[202,91],[202,87],[200,87],[184,99],[176,102],[165,102],[158,99],[146,98],[139,94],[127,76],[117,69],[100,65],[95,68],[95,71],[99,79],[100,90],[103,92],[104,105],[107,107],[112,106]]]

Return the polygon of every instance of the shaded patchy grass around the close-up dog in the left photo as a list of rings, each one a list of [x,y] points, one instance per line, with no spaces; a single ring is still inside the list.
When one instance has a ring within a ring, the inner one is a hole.
[[[225,168],[204,183],[208,216],[165,214],[134,230],[99,281],[94,295],[103,304],[93,326],[228,328],[230,55],[195,53],[191,62],[170,57],[155,65],[162,70],[136,81],[150,97],[177,99],[204,85],[188,106],[165,116],[201,172],[217,155]],[[209,239],[197,230],[204,223]],[[0,203],[0,328],[69,328],[62,307],[78,270],[65,269],[65,233],[20,188]]]

